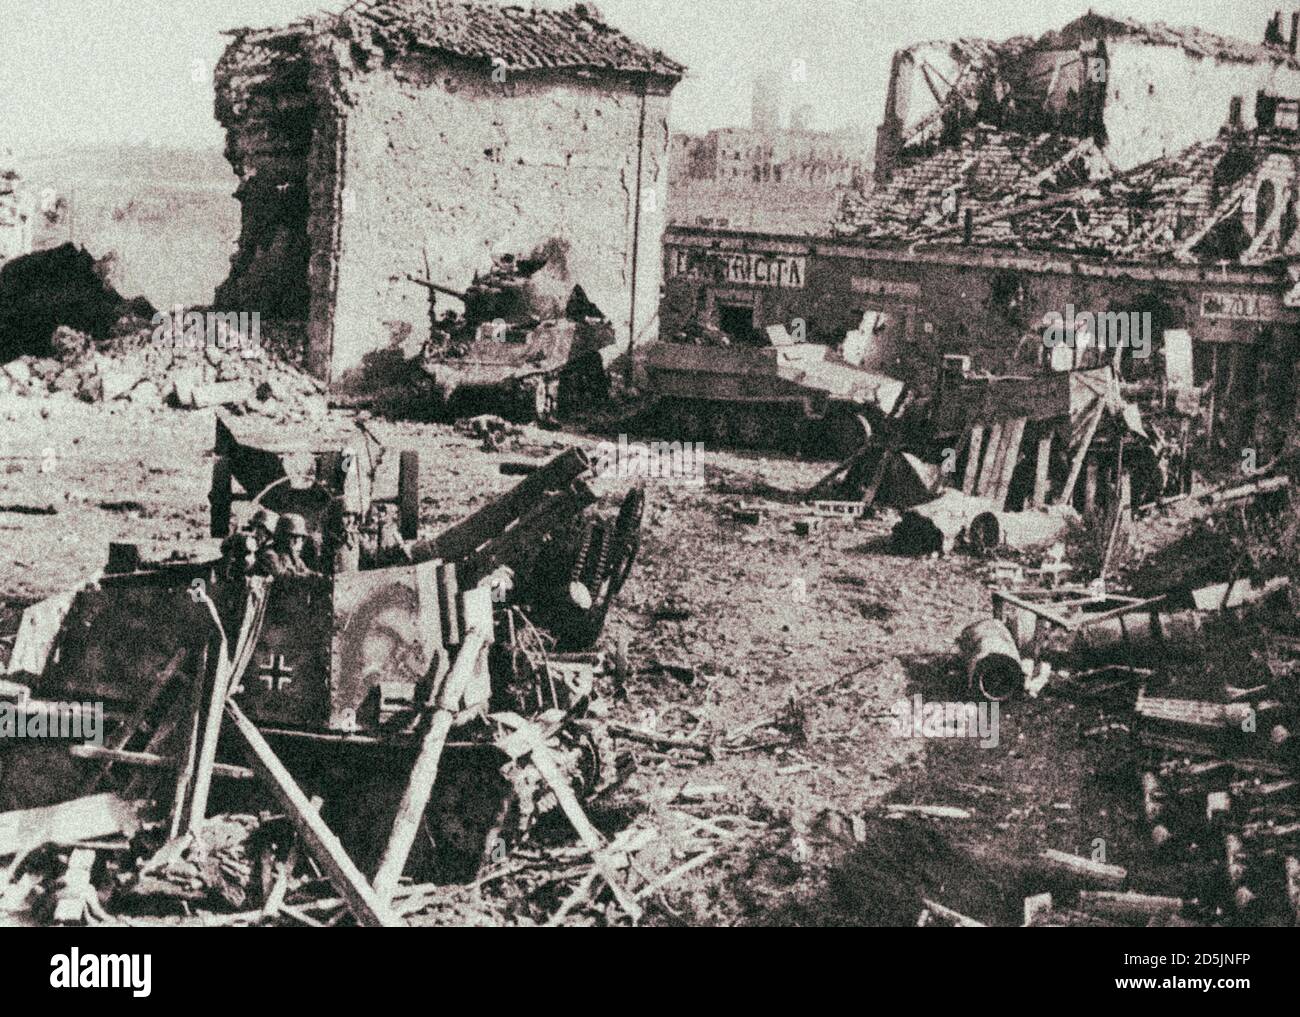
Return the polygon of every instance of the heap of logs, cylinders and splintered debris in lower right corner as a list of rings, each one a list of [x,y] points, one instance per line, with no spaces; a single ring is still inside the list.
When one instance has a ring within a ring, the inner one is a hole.
[[[1140,597],[1087,575],[1061,583],[1060,571],[1017,568],[1015,584],[993,593],[994,619],[963,632],[972,688],[991,696],[980,667],[1010,661],[1011,684],[1023,679],[1030,694],[1095,704],[1084,737],[1115,743],[1135,767],[1147,857],[1119,866],[1044,852],[1026,925],[1300,922],[1300,637],[1290,580],[1269,571],[1275,562],[1254,561],[1247,535],[1217,522],[1248,508],[1256,528],[1278,525],[1287,486],[1286,477],[1236,480],[1171,503],[1179,525],[1147,527],[1147,544],[1135,541],[1147,555],[1132,570]],[[1188,562],[1178,535],[1190,527],[1218,537],[1208,561]],[[1157,533],[1166,546],[1150,546]],[[989,637],[971,637],[980,626]],[[996,697],[1006,694],[1002,683]]]

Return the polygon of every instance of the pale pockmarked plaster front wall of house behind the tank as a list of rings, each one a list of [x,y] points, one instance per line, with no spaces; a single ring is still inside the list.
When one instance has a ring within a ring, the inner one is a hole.
[[[526,256],[564,241],[572,282],[625,342],[638,143],[634,313],[638,333],[653,326],[667,94],[642,100],[638,83],[616,75],[540,72],[494,81],[454,57],[385,60],[356,46],[335,55],[356,61],[342,72],[337,293],[332,323],[324,304],[312,315],[313,355],[329,343],[335,380],[393,341],[426,337],[426,293],[406,278],[424,272],[425,252],[436,282],[464,289],[494,255]]]

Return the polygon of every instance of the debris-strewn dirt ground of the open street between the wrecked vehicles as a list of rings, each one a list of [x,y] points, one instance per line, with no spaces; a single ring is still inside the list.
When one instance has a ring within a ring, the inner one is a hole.
[[[529,427],[488,453],[447,425],[369,427],[393,450],[421,453],[422,536],[517,482],[503,462],[601,440]],[[91,577],[109,541],[153,559],[214,555],[212,436],[211,411],[0,403],[0,632],[12,633],[23,602]],[[381,463],[381,492],[395,488],[396,458]],[[892,554],[889,514],[797,536],[794,502],[826,463],[712,449],[705,463],[698,486],[647,481],[642,554],[603,636],[612,648],[625,633],[633,670],[611,718],[668,735],[753,735],[710,762],[625,744],[637,769],[616,796],[655,809],[681,801],[684,786],[716,786],[686,808],[745,819],[647,921],[914,925],[930,895],[1019,925],[1019,866],[1043,848],[1092,856],[1100,840],[1108,861],[1145,864],[1131,759],[1082,733],[1104,723],[1104,705],[1004,704],[992,748],[894,733],[901,700],[971,698],[953,640],[989,613],[984,566]],[[616,506],[629,482],[599,481],[602,505]],[[733,522],[727,508],[742,499],[767,516]],[[53,514],[13,511],[22,506]],[[887,819],[885,801],[970,818]]]

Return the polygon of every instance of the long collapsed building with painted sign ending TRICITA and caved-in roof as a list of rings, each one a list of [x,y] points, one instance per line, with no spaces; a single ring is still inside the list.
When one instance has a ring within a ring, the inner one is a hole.
[[[1150,42],[1166,38],[1156,29],[1139,35],[1124,25],[1124,46],[1171,46]],[[1075,22],[1050,38],[1079,30]],[[1105,44],[1117,49],[1112,39]],[[1024,40],[1015,46],[1034,52]],[[1218,68],[1228,82],[1266,74],[1270,87],[1284,83],[1294,64],[1288,46],[1235,46],[1222,52],[1238,57],[1216,56],[1201,70]],[[985,64],[1004,66],[994,56]],[[1115,81],[1108,82],[1113,92]],[[1154,87],[1191,86],[1175,77]],[[966,371],[1035,375],[1118,356],[1127,381],[1195,393],[1222,445],[1275,453],[1296,412],[1300,321],[1300,82],[1286,87],[1288,94],[1249,92],[1244,112],[1234,94],[1213,111],[1213,131],[1197,126],[1205,137],[1128,168],[1135,150],[1117,150],[1118,118],[1105,131],[1080,133],[1078,121],[1066,130],[1060,121],[984,120],[987,111],[971,107],[982,116],[958,122],[959,130],[950,120],[930,139],[892,155],[881,148],[888,172],[870,194],[844,202],[827,234],[670,228],[662,328],[672,336],[702,323],[757,341],[767,326],[802,324],[828,345],[854,336],[866,345],[866,367],[923,393],[939,386],[954,358]],[[1009,104],[1006,98],[997,108]],[[1196,108],[1210,116],[1205,103]],[[1091,359],[1074,355],[1074,337],[1069,352],[1054,350],[1045,325],[1071,311],[1123,315],[1147,334]]]

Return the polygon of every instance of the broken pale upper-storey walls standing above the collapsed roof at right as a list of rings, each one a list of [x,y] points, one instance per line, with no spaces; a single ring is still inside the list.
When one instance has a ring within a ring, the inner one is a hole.
[[[1249,117],[1258,94],[1300,96],[1296,36],[1268,43],[1092,12],[1039,39],[918,43],[894,53],[876,179],[950,147],[976,124],[1097,142],[1131,169],[1213,138],[1223,111]]]

